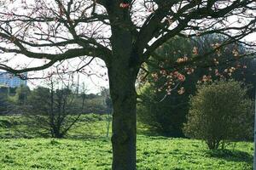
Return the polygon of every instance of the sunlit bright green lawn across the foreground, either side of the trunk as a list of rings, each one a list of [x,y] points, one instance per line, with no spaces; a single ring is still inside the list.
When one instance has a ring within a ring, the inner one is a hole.
[[[84,139],[0,139],[0,169],[110,169],[111,143],[104,137],[103,120],[96,118],[86,125],[79,122],[70,133],[77,137],[83,132],[94,139],[86,135]],[[11,127],[2,127],[0,136],[6,129],[15,133]],[[138,136],[138,170],[239,170],[252,169],[252,165],[252,143],[238,143],[236,150],[209,151],[199,140]]]

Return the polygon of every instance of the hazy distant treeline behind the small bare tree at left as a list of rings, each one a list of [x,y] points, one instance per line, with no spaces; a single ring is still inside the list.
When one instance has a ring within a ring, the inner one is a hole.
[[[18,88],[6,88],[0,87],[0,115],[5,114],[20,114],[19,111],[15,111],[15,105],[29,105],[31,98],[36,93],[44,93],[44,90],[49,88],[38,87],[30,89],[28,87],[20,86]],[[96,113],[105,114],[109,110],[106,105],[105,94],[77,94],[75,91],[71,91],[76,102],[83,102],[83,113]]]

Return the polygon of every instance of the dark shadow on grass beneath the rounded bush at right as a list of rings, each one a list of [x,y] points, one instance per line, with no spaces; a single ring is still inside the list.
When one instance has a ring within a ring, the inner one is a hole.
[[[207,155],[226,161],[244,161],[253,163],[253,156],[241,150],[207,150]]]

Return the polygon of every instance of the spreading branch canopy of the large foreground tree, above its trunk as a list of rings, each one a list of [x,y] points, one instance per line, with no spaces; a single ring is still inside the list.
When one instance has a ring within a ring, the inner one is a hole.
[[[0,5],[2,53],[45,60],[44,65],[11,68],[5,64],[9,59],[2,59],[0,68],[16,74],[81,56],[98,57],[108,65],[115,48],[130,46],[117,43],[119,37],[127,36],[142,63],[177,35],[218,32],[228,37],[227,43],[255,31],[253,0],[9,0]]]

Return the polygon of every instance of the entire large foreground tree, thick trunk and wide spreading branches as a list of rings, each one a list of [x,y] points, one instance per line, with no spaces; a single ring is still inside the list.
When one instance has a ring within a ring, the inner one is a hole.
[[[174,36],[218,32],[226,36],[224,44],[241,40],[255,31],[254,9],[253,0],[23,0],[21,4],[11,0],[0,7],[0,50],[43,59],[44,64],[11,67],[9,59],[3,59],[0,69],[19,76],[55,65],[66,72],[57,64],[83,56],[102,59],[108,68],[113,101],[113,169],[134,170],[135,82],[140,66]],[[212,51],[224,44],[215,44]],[[83,71],[91,59],[84,62],[73,71]]]

